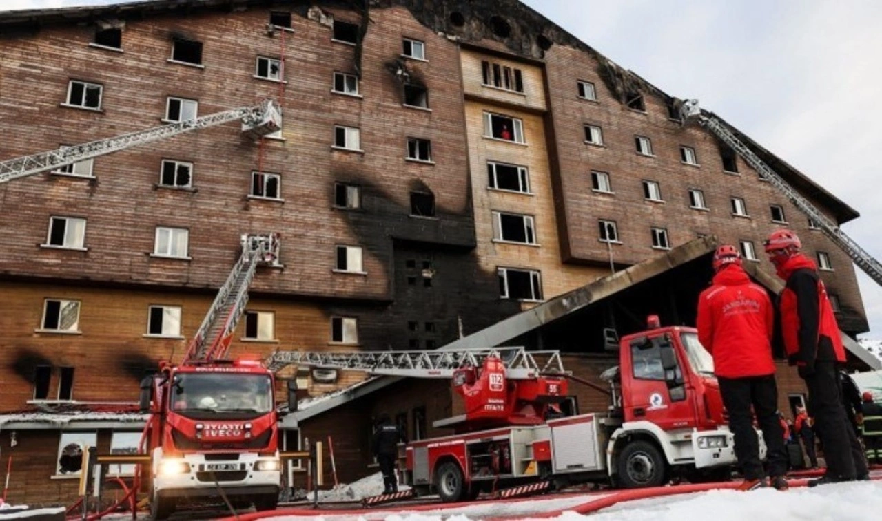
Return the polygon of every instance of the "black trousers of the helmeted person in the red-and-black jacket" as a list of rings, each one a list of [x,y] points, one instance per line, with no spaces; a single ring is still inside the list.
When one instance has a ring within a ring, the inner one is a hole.
[[[836,362],[819,360],[815,372],[804,380],[809,390],[809,412],[824,443],[827,473],[838,480],[854,480],[869,471],[855,430],[848,423],[839,378]]]

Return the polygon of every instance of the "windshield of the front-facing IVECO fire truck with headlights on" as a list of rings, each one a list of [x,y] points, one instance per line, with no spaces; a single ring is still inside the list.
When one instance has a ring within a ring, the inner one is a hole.
[[[254,417],[273,410],[272,383],[265,375],[179,373],[171,408],[202,419]]]

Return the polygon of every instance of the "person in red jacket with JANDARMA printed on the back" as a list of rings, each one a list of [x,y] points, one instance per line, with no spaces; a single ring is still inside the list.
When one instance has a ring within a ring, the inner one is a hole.
[[[714,356],[714,374],[729,413],[738,465],[744,473],[740,488],[766,485],[752,406],[766,441],[771,484],[786,490],[787,451],[778,421],[771,344],[774,309],[766,290],[751,282],[741,263],[741,254],[734,246],[722,245],[714,252],[714,282],[699,296],[699,340]]]

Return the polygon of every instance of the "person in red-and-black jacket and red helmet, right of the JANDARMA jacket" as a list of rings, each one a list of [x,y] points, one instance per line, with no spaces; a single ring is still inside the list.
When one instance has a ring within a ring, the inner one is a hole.
[[[827,472],[809,486],[867,479],[866,460],[848,425],[836,370],[845,362],[845,348],[817,266],[800,253],[802,242],[790,230],[774,231],[765,246],[769,261],[786,282],[779,301],[784,350],[805,381],[815,431],[824,443]]]

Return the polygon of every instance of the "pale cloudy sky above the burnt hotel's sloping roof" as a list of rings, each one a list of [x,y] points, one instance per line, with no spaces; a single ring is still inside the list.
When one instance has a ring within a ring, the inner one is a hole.
[[[106,0],[0,0],[0,10]],[[851,205],[843,227],[882,257],[882,2],[526,0],[664,92],[698,98]],[[791,218],[792,219],[792,218]],[[835,268],[835,266],[834,266]],[[882,339],[882,287],[857,270]]]

